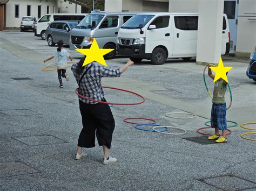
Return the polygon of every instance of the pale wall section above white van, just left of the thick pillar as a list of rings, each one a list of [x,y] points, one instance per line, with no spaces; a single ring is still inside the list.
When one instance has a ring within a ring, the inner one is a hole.
[[[207,1],[207,0],[205,0],[205,1]],[[199,0],[170,0],[169,1],[169,12],[195,12],[195,13],[198,13],[198,5],[199,5]]]

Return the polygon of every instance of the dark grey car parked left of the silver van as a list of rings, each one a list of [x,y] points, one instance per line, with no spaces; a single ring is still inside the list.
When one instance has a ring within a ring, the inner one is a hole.
[[[77,21],[55,21],[52,22],[45,31],[45,37],[49,46],[55,46],[59,40],[63,40],[65,45],[69,45],[70,31],[79,22]]]

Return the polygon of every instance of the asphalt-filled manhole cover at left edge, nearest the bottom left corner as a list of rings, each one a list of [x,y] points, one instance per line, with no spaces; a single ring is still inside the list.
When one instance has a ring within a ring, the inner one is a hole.
[[[0,178],[39,173],[38,169],[22,161],[0,162]]]

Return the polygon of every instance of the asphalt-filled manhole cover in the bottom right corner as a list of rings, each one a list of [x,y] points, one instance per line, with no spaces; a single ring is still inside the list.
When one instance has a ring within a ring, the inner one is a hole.
[[[221,190],[255,189],[256,183],[232,174],[199,179],[198,181]]]

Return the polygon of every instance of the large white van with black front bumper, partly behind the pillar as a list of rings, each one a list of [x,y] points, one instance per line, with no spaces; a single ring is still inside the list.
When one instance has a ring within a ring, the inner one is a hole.
[[[132,61],[149,59],[162,65],[167,58],[190,60],[197,55],[198,13],[144,13],[134,15],[118,31],[117,54]],[[223,16],[221,54],[228,54],[230,31]]]

